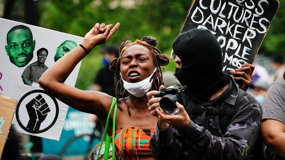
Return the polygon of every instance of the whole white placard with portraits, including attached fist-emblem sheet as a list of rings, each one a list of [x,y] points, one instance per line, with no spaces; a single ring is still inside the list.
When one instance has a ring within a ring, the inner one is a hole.
[[[22,133],[59,140],[68,106],[39,88],[38,81],[83,38],[2,18],[0,35],[0,94],[20,101],[13,123]],[[80,64],[65,84],[75,85]]]

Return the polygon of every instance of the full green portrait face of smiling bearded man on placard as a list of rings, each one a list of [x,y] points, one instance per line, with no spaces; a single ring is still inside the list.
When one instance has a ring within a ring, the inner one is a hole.
[[[11,63],[18,67],[26,66],[33,58],[36,41],[29,27],[18,25],[7,33],[6,53]]]

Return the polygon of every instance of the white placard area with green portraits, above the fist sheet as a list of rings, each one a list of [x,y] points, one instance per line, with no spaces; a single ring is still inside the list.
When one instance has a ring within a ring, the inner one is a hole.
[[[0,94],[12,97],[14,85],[39,87],[41,75],[83,38],[0,18]],[[65,84],[74,86],[81,62]],[[68,64],[67,64],[68,65]]]

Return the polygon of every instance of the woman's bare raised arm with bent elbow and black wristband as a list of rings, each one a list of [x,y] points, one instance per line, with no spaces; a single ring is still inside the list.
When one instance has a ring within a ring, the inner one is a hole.
[[[81,43],[88,51],[95,46],[106,42],[118,29],[119,23],[114,28],[112,24],[105,25],[96,23],[95,26],[85,35]],[[55,98],[63,103],[82,112],[99,114],[101,111],[109,110],[112,96],[102,92],[83,91],[64,84],[74,67],[86,56],[81,46],[77,46],[68,54],[53,64],[39,79],[39,84]]]

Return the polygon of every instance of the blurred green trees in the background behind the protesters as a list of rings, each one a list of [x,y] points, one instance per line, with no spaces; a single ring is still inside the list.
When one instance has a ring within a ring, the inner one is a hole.
[[[142,36],[154,36],[157,48],[170,54],[192,0],[46,0],[40,1],[40,26],[77,36],[84,36],[96,22],[121,26],[107,44],[120,45]],[[277,14],[260,47],[259,53],[285,55],[285,3],[280,0]],[[85,89],[92,84],[102,67],[98,46],[82,61],[76,87]],[[174,60],[166,70],[174,71]]]

